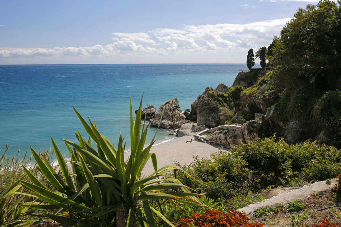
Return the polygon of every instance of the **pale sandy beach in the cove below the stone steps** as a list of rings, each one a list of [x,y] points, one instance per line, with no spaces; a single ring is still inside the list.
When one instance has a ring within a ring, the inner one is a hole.
[[[212,153],[218,151],[220,146],[212,146],[198,140],[194,140],[193,135],[198,132],[192,132],[194,127],[192,123],[186,123],[187,131],[191,135],[186,135],[182,137],[176,137],[168,142],[152,146],[150,152],[153,152],[157,156],[158,168],[165,165],[171,165],[175,162],[180,164],[190,164],[193,162],[193,156],[198,156],[199,158],[209,158]],[[185,141],[193,140],[191,143],[185,143]],[[151,160],[146,164],[142,175],[149,175],[154,173],[154,168]]]

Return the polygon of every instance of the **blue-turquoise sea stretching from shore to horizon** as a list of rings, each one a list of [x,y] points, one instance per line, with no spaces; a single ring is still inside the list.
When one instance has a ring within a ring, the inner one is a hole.
[[[207,86],[231,86],[240,69],[246,64],[0,65],[0,154],[7,142],[10,156],[48,150],[52,136],[68,156],[61,139],[77,142],[77,130],[88,138],[72,107],[111,142],[121,132],[129,151],[130,98],[135,110],[142,95],[143,108],[176,97],[184,111]],[[174,138],[168,133],[158,130],[155,144]]]

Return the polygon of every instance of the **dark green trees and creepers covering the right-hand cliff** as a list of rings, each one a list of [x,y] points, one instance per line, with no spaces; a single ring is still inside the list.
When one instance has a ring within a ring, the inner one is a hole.
[[[240,80],[247,83],[257,74],[258,81],[241,92],[241,106],[234,111],[237,123],[253,119],[254,113],[266,114],[264,109],[275,105],[271,123],[281,126],[278,135],[287,141],[318,139],[341,148],[340,15],[340,2],[307,5],[268,47],[256,51],[263,71],[268,71],[262,75],[254,70],[238,78],[243,84]]]

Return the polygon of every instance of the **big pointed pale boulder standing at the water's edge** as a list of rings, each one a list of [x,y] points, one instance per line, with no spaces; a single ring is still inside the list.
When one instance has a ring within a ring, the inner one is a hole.
[[[165,108],[160,123],[162,129],[178,129],[185,124],[185,115],[180,110],[179,101],[177,98],[173,98],[168,102],[162,104],[160,108],[155,112],[154,118],[160,118],[162,110]],[[153,120],[153,119],[151,119]],[[151,123],[151,126],[158,127],[160,119],[156,119]]]

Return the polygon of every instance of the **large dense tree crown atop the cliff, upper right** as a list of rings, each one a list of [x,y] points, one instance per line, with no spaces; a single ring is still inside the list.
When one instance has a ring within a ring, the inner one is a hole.
[[[313,82],[323,90],[340,88],[341,1],[324,0],[300,8],[275,37],[279,82],[290,88]],[[257,56],[257,55],[256,55]],[[290,81],[290,84],[287,82]]]

